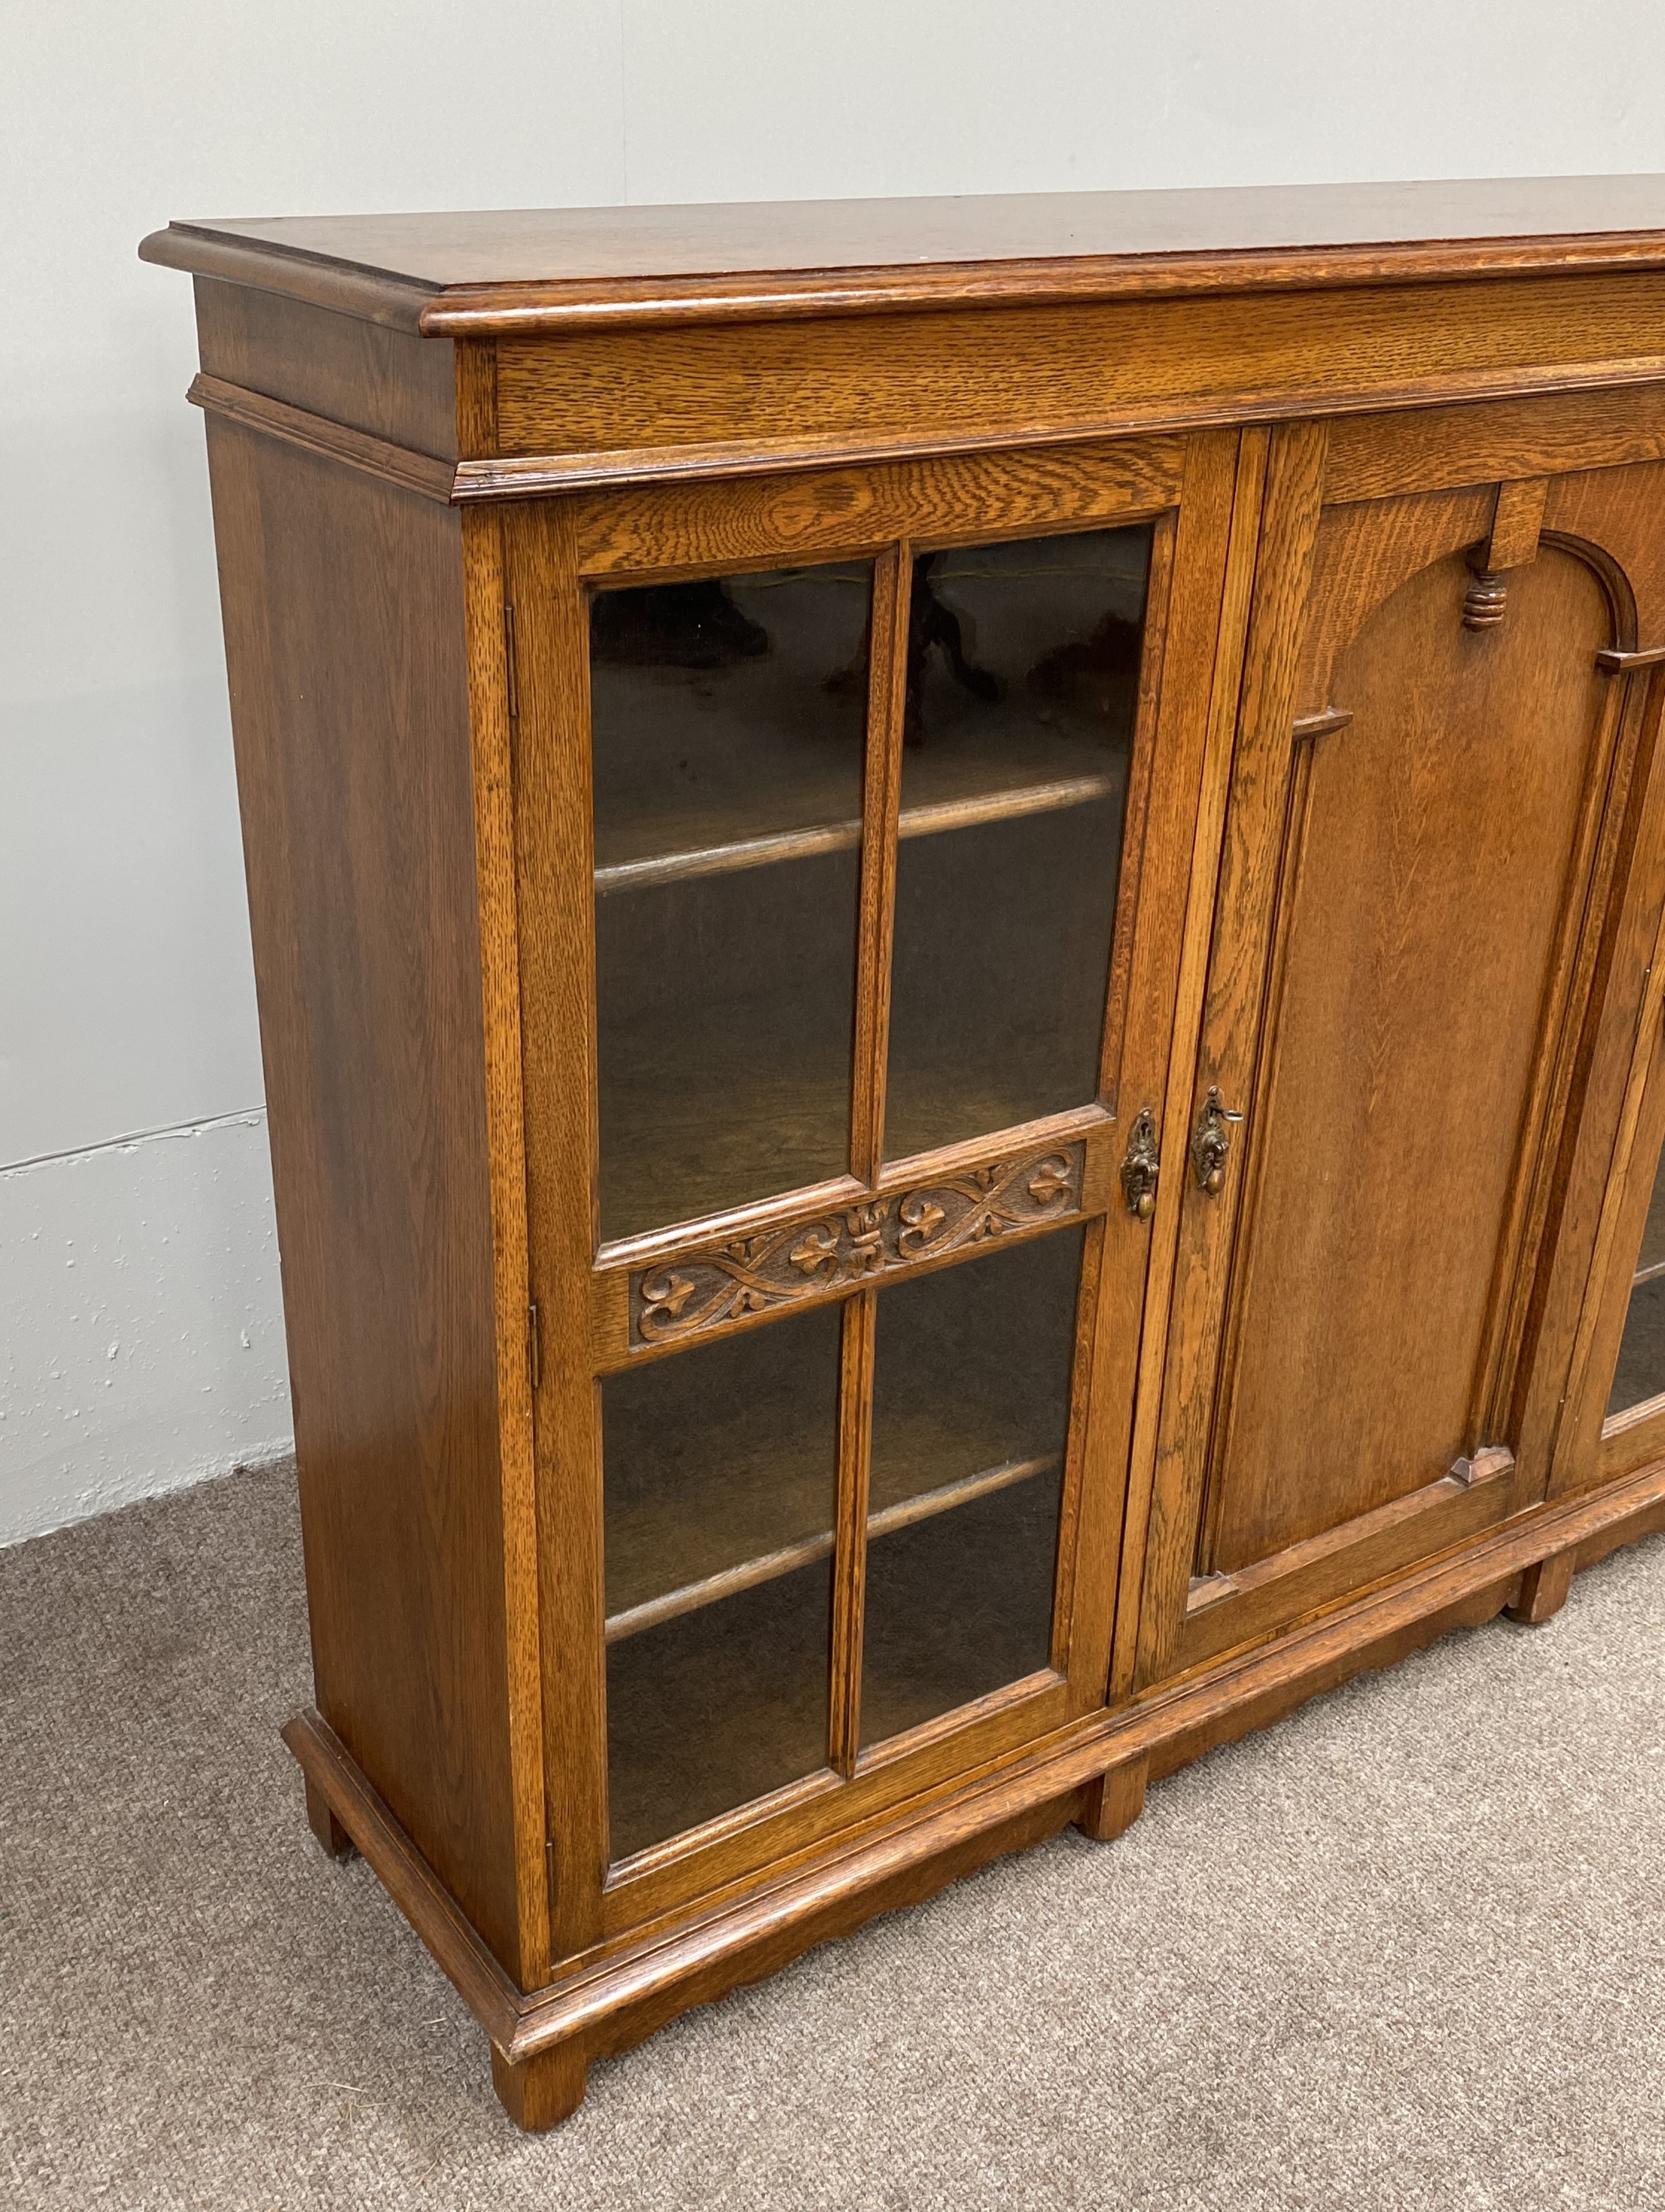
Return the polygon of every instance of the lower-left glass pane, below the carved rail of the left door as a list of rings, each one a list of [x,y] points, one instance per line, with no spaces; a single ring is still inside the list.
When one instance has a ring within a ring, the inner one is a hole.
[[[612,1858],[827,1763],[838,1318],[601,1385]]]

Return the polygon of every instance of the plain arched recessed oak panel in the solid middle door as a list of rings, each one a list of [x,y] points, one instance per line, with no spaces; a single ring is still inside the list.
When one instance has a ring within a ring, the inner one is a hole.
[[[1475,633],[1470,582],[1451,553],[1366,617],[1333,664],[1351,721],[1294,763],[1203,1573],[1437,1482],[1473,1442],[1608,604],[1543,551]]]

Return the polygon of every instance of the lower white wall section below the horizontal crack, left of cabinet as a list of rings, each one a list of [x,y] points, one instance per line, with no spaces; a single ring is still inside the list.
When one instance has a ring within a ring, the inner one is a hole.
[[[263,1113],[0,1172],[0,1544],[290,1449]]]

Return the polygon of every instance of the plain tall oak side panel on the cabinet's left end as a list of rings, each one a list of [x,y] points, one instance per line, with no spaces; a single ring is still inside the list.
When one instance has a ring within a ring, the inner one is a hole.
[[[460,524],[208,449],[318,1708],[517,1973]]]

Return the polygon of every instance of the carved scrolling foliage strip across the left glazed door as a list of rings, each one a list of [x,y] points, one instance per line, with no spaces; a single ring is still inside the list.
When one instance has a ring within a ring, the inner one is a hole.
[[[663,1345],[1064,1221],[1081,1212],[1083,1170],[1083,1144],[1048,1146],[643,1267],[630,1276],[630,1343]]]

